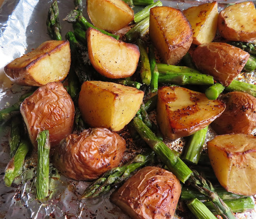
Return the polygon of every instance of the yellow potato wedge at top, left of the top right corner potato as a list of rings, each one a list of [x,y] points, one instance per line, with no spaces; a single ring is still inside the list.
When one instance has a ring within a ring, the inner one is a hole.
[[[193,44],[211,43],[215,38],[218,25],[217,2],[201,4],[183,10],[193,31]]]

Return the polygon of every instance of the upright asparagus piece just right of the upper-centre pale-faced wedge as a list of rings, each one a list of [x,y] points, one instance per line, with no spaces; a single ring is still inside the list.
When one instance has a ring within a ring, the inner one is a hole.
[[[140,39],[137,41],[137,44],[140,49],[140,61],[141,61],[140,77],[143,83],[145,83],[146,85],[150,85],[151,71],[150,71],[147,48],[145,43]]]

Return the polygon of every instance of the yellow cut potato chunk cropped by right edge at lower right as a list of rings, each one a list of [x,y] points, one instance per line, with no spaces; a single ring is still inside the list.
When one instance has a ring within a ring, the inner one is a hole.
[[[211,166],[219,183],[229,192],[256,194],[256,137],[220,135],[207,142]]]

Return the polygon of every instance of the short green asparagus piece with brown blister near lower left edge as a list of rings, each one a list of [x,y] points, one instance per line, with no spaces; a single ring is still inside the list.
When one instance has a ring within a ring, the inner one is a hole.
[[[5,169],[4,183],[7,187],[10,187],[14,178],[20,174],[28,150],[29,142],[21,140],[14,157],[10,160]]]

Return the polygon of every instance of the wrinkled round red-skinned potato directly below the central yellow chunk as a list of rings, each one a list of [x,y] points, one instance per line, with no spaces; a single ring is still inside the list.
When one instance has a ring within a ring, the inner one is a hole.
[[[125,148],[125,140],[106,128],[83,130],[61,142],[55,150],[54,166],[69,178],[93,180],[117,167]]]

